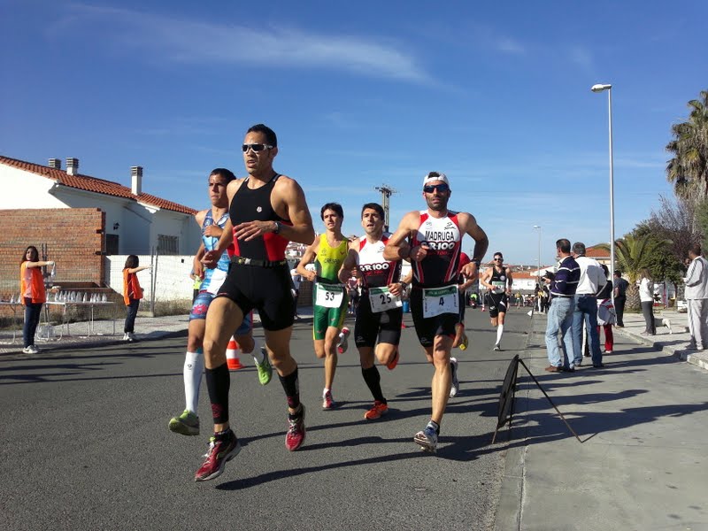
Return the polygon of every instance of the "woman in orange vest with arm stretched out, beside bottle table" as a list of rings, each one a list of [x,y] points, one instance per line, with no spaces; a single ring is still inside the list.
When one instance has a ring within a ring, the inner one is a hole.
[[[22,255],[22,262],[19,266],[19,294],[22,304],[25,306],[25,326],[22,328],[22,337],[25,354],[36,354],[39,349],[35,347],[35,333],[39,324],[42,304],[47,302],[46,291],[44,290],[44,278],[42,277],[42,266],[54,266],[54,262],[41,262],[39,251],[34,245],[30,245]]]

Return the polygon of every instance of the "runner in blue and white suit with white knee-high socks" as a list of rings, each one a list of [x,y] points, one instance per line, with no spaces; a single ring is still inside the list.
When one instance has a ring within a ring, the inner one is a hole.
[[[202,277],[199,293],[197,293],[192,311],[189,312],[189,337],[187,339],[187,355],[184,360],[184,396],[185,410],[179,416],[170,419],[168,427],[171,431],[181,435],[199,435],[199,417],[196,406],[199,403],[199,387],[204,373],[204,325],[206,312],[213,298],[216,296],[221,284],[227,277],[230,255],[233,255],[233,246],[221,255],[214,269],[204,268],[200,259],[207,250],[213,250],[224,226],[228,220],[227,184],[235,180],[234,173],[226,168],[217,168],[209,175],[209,198],[212,207],[196,212],[195,219],[202,228],[202,244],[194,258],[193,271],[196,276]],[[258,379],[266,385],[271,380],[272,369],[263,347],[253,340],[252,314],[244,317],[240,327],[235,331],[234,337],[243,353],[251,353],[258,367]]]

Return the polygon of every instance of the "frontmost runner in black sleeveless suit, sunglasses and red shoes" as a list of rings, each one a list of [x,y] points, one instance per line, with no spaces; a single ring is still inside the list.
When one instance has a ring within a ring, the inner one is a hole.
[[[231,331],[253,309],[258,310],[268,355],[288,399],[286,448],[297,450],[305,437],[297,363],[290,356],[295,308],[285,249],[290,241],[312,242],[315,236],[312,218],[300,185],[273,170],[273,159],[278,154],[278,139],[273,129],[263,124],[250,127],[242,151],[249,175],[228,183],[229,220],[219,243],[214,250],[204,253],[202,259],[206,266],[215,266],[221,253],[233,242],[235,254],[227,279],[206,315],[204,365],[214,435],[195,481],[218,477],[227,461],[241,450],[229,427],[226,350]]]

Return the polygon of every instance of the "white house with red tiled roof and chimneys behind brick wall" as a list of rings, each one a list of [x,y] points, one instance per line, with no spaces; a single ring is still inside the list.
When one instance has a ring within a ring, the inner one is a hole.
[[[104,235],[101,254],[193,254],[200,243],[196,211],[144,192],[141,166],[130,168],[130,183],[79,173],[77,158],[67,158],[63,170],[58,158],[39,165],[0,156],[0,210],[98,209],[104,212],[103,227],[96,228]]]

